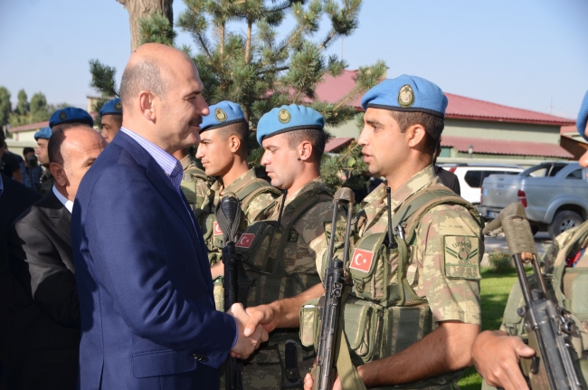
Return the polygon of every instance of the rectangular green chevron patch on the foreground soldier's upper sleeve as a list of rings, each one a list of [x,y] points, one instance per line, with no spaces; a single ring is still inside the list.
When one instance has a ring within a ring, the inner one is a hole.
[[[443,237],[445,276],[450,279],[479,280],[479,238],[446,235]]]

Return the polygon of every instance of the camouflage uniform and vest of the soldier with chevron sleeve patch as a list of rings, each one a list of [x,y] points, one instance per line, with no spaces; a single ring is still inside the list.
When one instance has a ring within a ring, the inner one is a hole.
[[[432,166],[427,166],[394,190],[390,205],[393,219],[402,211],[403,205],[416,198],[413,197],[415,193],[429,187],[432,189],[438,183],[439,178],[434,175]],[[354,217],[356,237],[352,243],[355,243],[356,251],[360,240],[367,240],[375,234],[384,236],[388,232],[386,186],[383,183],[367,195],[361,204],[362,210]],[[423,214],[413,232],[412,240],[408,235],[406,237],[408,262],[405,271],[399,269],[398,252],[384,252],[384,261],[376,253],[363,268],[369,254],[361,257],[361,252],[351,250],[346,269],[354,286],[342,315],[352,362],[356,366],[400,352],[430,333],[440,321],[481,323],[479,253],[484,252],[484,243],[480,239],[479,222],[461,205],[434,205]],[[326,264],[326,257],[318,259],[320,275],[323,275]],[[407,296],[398,303],[394,301],[394,292],[398,285],[402,285],[398,277],[402,272],[408,282],[403,290],[410,290],[413,298]],[[364,276],[362,283],[361,277]],[[397,279],[398,284],[394,284]],[[366,297],[369,290],[377,293],[372,292],[372,297]],[[387,302],[383,298],[386,296]],[[301,316],[307,319],[304,312]],[[378,328],[384,330],[380,333]],[[307,339],[305,345],[312,344],[312,341]],[[440,378],[439,381],[433,378],[433,383],[395,387],[450,388],[451,383],[457,386],[457,376]]]

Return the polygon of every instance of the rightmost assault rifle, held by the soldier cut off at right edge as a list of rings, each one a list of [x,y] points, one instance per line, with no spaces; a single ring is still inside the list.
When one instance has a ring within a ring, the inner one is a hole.
[[[517,268],[518,282],[526,305],[517,310],[525,318],[528,345],[536,356],[521,359],[521,367],[528,373],[534,390],[580,390],[582,383],[570,354],[569,335],[574,320],[554,300],[546,298],[545,281],[537,262],[537,252],[531,227],[523,205],[508,205],[494,221],[484,228],[484,234],[502,226],[507,236],[508,249]],[[539,289],[531,290],[523,263],[531,263]]]

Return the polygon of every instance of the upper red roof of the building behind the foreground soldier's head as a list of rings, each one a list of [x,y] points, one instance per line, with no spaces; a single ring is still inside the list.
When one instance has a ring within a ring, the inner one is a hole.
[[[357,71],[343,71],[338,77],[326,76],[325,80],[318,84],[316,90],[317,100],[335,103],[341,100],[356,86]],[[548,115],[529,109],[516,109],[489,101],[466,98],[452,93],[445,93],[449,104],[445,118],[474,119],[498,122],[533,123],[537,125],[573,125],[573,119],[565,119]],[[346,104],[361,110],[362,95],[356,96]]]

